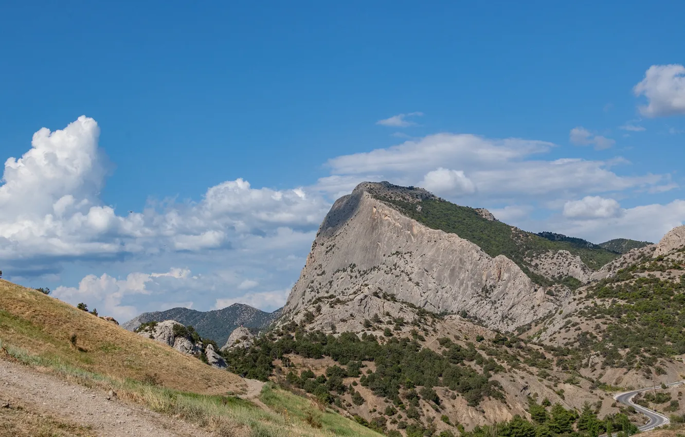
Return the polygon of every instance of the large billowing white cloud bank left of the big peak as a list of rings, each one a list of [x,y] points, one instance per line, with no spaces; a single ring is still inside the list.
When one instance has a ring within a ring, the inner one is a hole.
[[[251,188],[236,179],[208,188],[197,203],[150,205],[120,216],[99,199],[108,164],[98,136],[97,123],[81,116],[63,130],[40,129],[32,149],[5,162],[0,186],[5,266],[36,258],[240,249],[255,232],[292,240],[293,232],[308,236],[328,209],[321,195],[301,188]]]

